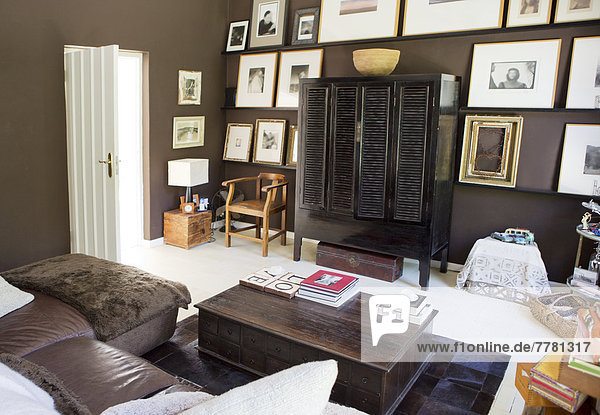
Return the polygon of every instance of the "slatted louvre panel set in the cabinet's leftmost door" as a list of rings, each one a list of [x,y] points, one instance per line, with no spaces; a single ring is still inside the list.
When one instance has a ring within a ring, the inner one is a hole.
[[[327,88],[309,88],[304,131],[304,193],[309,208],[325,207],[325,142],[327,134]]]

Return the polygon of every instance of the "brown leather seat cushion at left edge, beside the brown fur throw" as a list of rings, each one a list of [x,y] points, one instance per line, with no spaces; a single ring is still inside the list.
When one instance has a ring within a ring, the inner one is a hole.
[[[0,318],[0,353],[24,356],[69,337],[94,338],[92,326],[79,311],[54,297],[24,291],[35,300]]]

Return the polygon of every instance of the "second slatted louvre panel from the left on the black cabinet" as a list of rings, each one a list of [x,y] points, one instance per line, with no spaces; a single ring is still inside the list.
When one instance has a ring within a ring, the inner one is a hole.
[[[332,143],[331,191],[329,209],[354,213],[354,138],[356,137],[357,88],[337,88],[335,131]]]

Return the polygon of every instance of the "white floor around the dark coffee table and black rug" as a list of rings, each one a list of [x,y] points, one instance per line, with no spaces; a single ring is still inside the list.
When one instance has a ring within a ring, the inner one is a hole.
[[[322,269],[315,265],[316,243],[304,241],[302,260],[292,261],[293,240],[283,247],[279,240],[269,245],[269,256],[261,256],[260,245],[234,238],[231,248],[225,248],[222,233],[215,231],[215,242],[185,250],[159,244],[154,247],[136,247],[122,253],[122,262],[147,272],[184,283],[192,294],[192,304],[198,303],[238,284],[238,280],[261,268],[280,265],[301,275],[310,275]],[[427,291],[439,314],[434,320],[435,334],[457,340],[473,338],[491,341],[501,338],[533,338],[552,336],[539,324],[527,307],[491,299],[454,288],[456,273],[441,274],[432,268]],[[406,260],[404,274],[393,284],[361,277],[363,291],[372,287],[418,288],[417,263]],[[195,308],[181,310],[179,320],[195,313]],[[504,381],[496,395],[491,414],[520,414],[524,401],[514,386],[516,362],[511,361]]]

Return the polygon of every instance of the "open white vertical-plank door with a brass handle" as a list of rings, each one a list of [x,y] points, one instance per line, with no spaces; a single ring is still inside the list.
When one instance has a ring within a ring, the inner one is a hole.
[[[117,45],[65,51],[71,252],[119,261]]]

